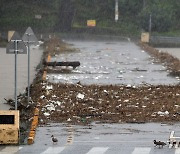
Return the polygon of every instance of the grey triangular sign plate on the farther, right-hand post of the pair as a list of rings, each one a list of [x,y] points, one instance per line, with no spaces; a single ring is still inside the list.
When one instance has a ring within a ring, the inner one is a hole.
[[[36,36],[34,35],[33,30],[31,29],[31,27],[28,27],[26,32],[24,33],[22,40],[27,44],[34,44],[34,45],[38,45],[38,39],[36,38]]]

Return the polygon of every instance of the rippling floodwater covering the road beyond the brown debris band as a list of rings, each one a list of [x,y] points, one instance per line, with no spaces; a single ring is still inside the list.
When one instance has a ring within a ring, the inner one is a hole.
[[[52,61],[80,61],[81,66],[68,74],[49,74],[51,82],[82,84],[169,85],[179,78],[168,76],[164,66],[156,63],[134,43],[118,41],[69,41],[79,52],[62,53]]]

